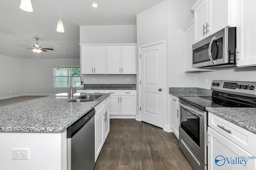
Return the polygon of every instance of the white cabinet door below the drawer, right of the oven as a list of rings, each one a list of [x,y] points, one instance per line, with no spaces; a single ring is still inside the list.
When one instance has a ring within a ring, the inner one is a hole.
[[[208,135],[208,170],[256,169],[256,159],[241,158],[256,155],[250,154],[211,127],[208,127]]]

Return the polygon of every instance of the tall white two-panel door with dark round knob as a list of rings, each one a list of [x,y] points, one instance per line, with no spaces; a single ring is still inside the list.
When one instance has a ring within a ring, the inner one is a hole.
[[[141,120],[163,127],[163,44],[141,49]]]

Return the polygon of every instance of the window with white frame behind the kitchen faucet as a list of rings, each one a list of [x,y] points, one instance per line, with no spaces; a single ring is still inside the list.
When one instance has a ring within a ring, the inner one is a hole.
[[[80,66],[54,66],[54,87],[69,87],[70,86],[70,76],[74,72],[80,73]],[[72,86],[80,87],[80,76],[75,74],[72,78]]]

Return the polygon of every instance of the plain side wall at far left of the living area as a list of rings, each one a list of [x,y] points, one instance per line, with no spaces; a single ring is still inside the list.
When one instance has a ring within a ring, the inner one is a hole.
[[[17,97],[24,93],[23,59],[0,55],[0,99]]]

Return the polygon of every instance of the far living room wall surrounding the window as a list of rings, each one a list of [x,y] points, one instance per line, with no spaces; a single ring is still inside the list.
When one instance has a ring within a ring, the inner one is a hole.
[[[79,59],[24,59],[24,94],[68,92],[69,88],[53,88],[53,66],[79,64]]]

